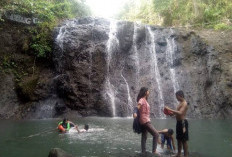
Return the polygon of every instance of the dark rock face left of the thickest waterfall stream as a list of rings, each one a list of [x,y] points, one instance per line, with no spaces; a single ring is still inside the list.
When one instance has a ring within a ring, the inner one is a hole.
[[[90,19],[67,23],[59,30],[61,37],[57,41],[62,44],[56,43],[54,53],[59,97],[69,108],[86,116],[96,115],[96,110],[102,115],[110,113],[101,95],[106,74],[105,41],[109,31],[104,25],[104,21],[94,24]]]

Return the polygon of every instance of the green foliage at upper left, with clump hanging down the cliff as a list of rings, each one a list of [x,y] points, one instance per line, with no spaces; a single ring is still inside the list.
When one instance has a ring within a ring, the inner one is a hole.
[[[60,21],[90,15],[89,8],[80,0],[2,0],[0,6],[5,11],[39,19],[40,23],[30,28],[30,49],[37,57],[49,56],[52,30]]]

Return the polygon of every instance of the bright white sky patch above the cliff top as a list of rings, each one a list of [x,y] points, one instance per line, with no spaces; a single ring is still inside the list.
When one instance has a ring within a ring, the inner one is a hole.
[[[127,0],[86,0],[93,16],[110,18],[120,11]]]

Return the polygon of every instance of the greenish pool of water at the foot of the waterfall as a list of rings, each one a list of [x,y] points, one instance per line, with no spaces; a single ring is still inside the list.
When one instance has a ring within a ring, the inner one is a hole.
[[[51,148],[80,157],[126,157],[140,152],[140,135],[132,132],[133,119],[81,118],[73,122],[83,128],[89,124],[90,132],[78,134],[75,130],[59,134],[59,119],[0,121],[0,157],[47,157]],[[154,119],[157,129],[173,128],[174,119]],[[189,152],[203,157],[232,156],[232,125],[229,120],[189,120]],[[44,132],[44,133],[43,133]],[[147,140],[151,151],[152,137]],[[158,150],[161,151],[160,146]]]

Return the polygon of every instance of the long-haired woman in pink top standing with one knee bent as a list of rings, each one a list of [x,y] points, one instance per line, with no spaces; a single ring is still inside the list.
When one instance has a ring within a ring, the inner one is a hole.
[[[142,153],[146,152],[147,132],[149,132],[153,136],[152,152],[153,154],[160,156],[160,154],[156,151],[159,133],[151,125],[150,105],[147,102],[148,96],[149,96],[149,90],[146,87],[142,87],[137,96],[138,109],[140,114],[139,122],[142,126],[142,138],[141,138]]]

